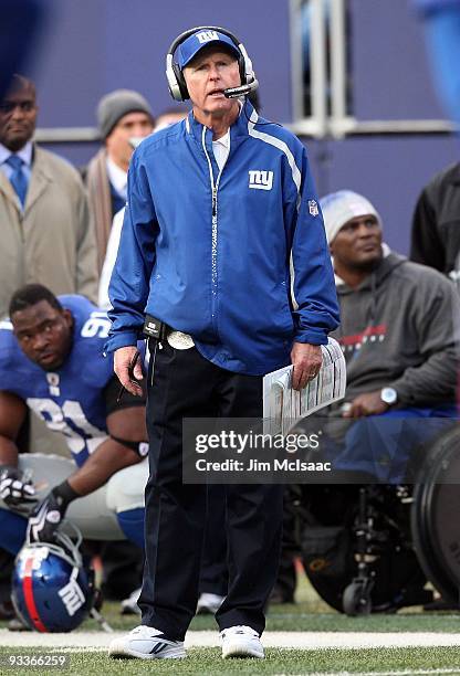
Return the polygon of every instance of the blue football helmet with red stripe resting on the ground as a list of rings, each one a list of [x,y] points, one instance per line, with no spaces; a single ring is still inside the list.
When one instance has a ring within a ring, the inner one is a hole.
[[[58,543],[33,542],[18,553],[12,602],[29,629],[71,632],[94,604],[93,571],[83,566],[79,545],[58,535]]]

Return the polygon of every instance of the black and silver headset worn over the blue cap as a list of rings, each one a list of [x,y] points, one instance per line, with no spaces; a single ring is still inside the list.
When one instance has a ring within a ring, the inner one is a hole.
[[[175,101],[187,101],[190,98],[186,80],[184,77],[184,73],[180,70],[179,65],[175,63],[174,55],[176,53],[177,47],[194,35],[198,31],[202,31],[203,33],[209,33],[210,40],[212,40],[211,33],[213,31],[218,31],[219,33],[223,33],[233,42],[234,46],[239,52],[238,57],[238,66],[240,70],[241,76],[241,85],[239,87],[230,87],[223,91],[224,96],[227,98],[238,98],[239,96],[245,96],[250,92],[254,91],[259,86],[259,82],[255,78],[254,71],[252,70],[252,63],[250,57],[248,56],[248,52],[245,51],[244,45],[238,40],[233,33],[227,31],[226,29],[219,28],[217,25],[198,25],[197,28],[190,29],[185,33],[181,33],[172,42],[169,51],[166,55],[166,77],[168,81],[170,95]]]

